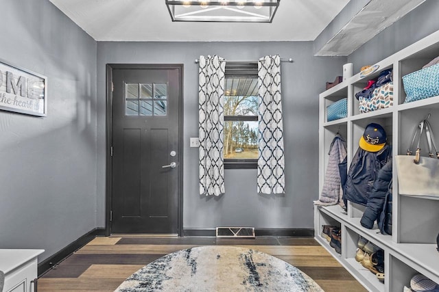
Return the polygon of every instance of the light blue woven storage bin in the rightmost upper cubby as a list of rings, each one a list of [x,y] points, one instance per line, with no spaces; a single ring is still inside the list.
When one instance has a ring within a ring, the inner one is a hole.
[[[439,95],[439,64],[403,76],[404,103]]]

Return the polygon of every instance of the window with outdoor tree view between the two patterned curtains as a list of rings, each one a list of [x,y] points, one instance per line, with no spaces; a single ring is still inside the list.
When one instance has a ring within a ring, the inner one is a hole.
[[[226,64],[224,168],[257,168],[258,64]]]

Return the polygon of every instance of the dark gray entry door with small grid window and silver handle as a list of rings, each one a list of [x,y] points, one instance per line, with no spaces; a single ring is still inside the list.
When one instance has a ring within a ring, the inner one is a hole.
[[[111,233],[178,233],[180,75],[112,70]]]

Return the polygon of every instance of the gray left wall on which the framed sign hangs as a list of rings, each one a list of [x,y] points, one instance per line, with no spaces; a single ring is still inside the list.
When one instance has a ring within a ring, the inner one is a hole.
[[[48,0],[1,0],[0,58],[47,77],[48,116],[0,111],[0,248],[40,260],[96,228],[96,42]]]

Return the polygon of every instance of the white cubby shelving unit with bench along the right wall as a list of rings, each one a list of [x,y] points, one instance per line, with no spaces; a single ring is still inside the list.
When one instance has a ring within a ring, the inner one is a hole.
[[[439,137],[439,96],[412,103],[404,103],[402,77],[420,70],[439,55],[439,31],[394,53],[375,65],[379,69],[366,77],[350,77],[333,88],[322,92],[319,109],[319,191],[329,159],[329,147],[339,132],[347,142],[348,166],[358,148],[358,142],[367,124],[376,122],[384,127],[392,155],[405,155],[410,146],[414,128],[420,120],[431,114],[429,121]],[[393,69],[393,105],[366,114],[359,113],[355,93],[361,91],[369,79],[378,77],[382,70]],[[348,98],[348,116],[327,122],[326,109],[335,101]],[[436,141],[438,144],[439,141]],[[421,148],[427,149],[427,147]],[[423,156],[426,156],[425,153]],[[381,235],[375,224],[373,229],[361,226],[360,219],[366,207],[348,202],[343,213],[339,205],[315,206],[314,228],[316,240],[326,248],[369,291],[403,291],[410,287],[415,274],[423,274],[439,283],[439,252],[436,237],[439,233],[439,200],[403,196],[398,192],[398,177],[393,159],[392,235]],[[320,236],[322,225],[340,226],[342,254],[337,254],[326,239]],[[359,236],[366,237],[384,250],[385,280],[380,282],[374,274],[355,261]]]

